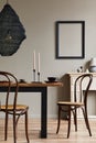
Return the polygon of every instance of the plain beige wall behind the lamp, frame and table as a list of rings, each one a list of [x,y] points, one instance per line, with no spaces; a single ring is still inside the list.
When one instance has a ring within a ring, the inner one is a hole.
[[[0,1],[0,10],[6,1]],[[36,54],[39,52],[41,54],[41,80],[44,81],[47,76],[62,78],[66,73],[76,70],[96,56],[96,0],[9,1],[25,28],[26,40],[22,42],[13,56],[0,57],[0,70],[11,72],[19,79],[32,81],[32,56],[35,50]],[[55,59],[55,21],[58,20],[85,21],[84,59]],[[61,90],[64,89],[61,88]],[[57,88],[49,88],[49,117],[56,117],[58,92]],[[20,95],[19,100],[30,106],[30,116],[40,117],[40,94],[38,96],[36,94]]]

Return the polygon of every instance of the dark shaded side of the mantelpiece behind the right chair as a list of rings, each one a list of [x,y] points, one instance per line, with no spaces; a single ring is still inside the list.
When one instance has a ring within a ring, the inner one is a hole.
[[[70,101],[71,100],[71,94],[70,94],[70,76],[65,74],[62,78],[61,81],[63,82],[63,87],[58,88],[57,91],[57,101]],[[67,113],[62,114],[63,119],[67,118]]]

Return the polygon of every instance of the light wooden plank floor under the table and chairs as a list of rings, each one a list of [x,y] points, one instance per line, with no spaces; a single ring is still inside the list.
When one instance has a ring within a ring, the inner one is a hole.
[[[74,124],[72,121],[71,138],[66,139],[67,121],[62,121],[60,133],[56,134],[57,120],[49,119],[47,124],[47,139],[40,139],[40,120],[29,120],[29,138],[30,143],[96,143],[96,120],[90,119],[90,128],[93,136],[88,135],[87,129],[85,128],[84,120],[78,121],[78,131],[75,132]],[[0,142],[1,143],[13,143],[12,136],[12,121],[9,120],[9,135],[8,141],[3,141],[3,125],[4,121],[0,120]],[[18,143],[26,143],[24,134],[24,124],[21,119],[18,125]]]

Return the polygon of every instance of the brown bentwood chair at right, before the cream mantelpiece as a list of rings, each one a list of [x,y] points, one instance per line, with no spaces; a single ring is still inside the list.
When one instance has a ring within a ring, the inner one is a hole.
[[[74,101],[58,101],[57,102],[58,120],[57,120],[56,133],[58,133],[58,130],[60,130],[61,113],[64,113],[64,112],[67,113],[67,121],[68,121],[67,138],[70,138],[72,117],[74,119],[75,131],[77,131],[77,110],[78,108],[81,108],[83,111],[84,119],[85,119],[86,128],[89,132],[89,135],[92,136],[92,131],[89,128],[88,114],[87,114],[87,95],[88,95],[92,80],[93,80],[92,74],[81,75],[79,77],[76,78],[74,82]],[[73,113],[73,116],[71,113]]]

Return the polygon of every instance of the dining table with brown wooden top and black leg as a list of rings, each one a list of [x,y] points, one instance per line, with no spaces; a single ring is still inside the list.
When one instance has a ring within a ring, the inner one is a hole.
[[[41,92],[41,139],[47,138],[47,87],[62,87],[61,81],[55,82],[19,82],[19,92]],[[6,92],[7,82],[0,82],[0,92]],[[15,84],[11,84],[11,92],[15,90]]]

